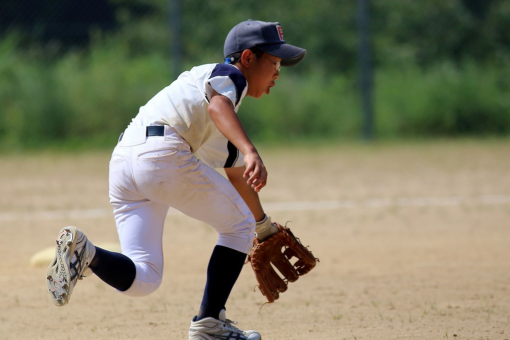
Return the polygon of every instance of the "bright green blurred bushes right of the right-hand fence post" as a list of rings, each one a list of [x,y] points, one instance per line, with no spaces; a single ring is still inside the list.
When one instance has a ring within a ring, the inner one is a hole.
[[[510,74],[494,65],[408,65],[376,77],[381,137],[510,133]]]

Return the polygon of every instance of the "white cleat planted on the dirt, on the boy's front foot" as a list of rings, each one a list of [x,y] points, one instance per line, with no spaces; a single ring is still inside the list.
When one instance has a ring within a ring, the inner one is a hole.
[[[233,326],[237,324],[225,318],[225,310],[220,311],[219,320],[205,318],[191,320],[189,340],[261,340],[262,336],[254,330],[243,331]]]

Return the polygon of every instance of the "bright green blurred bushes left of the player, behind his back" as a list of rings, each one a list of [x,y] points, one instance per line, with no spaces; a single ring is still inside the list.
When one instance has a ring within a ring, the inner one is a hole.
[[[0,144],[112,144],[165,86],[170,70],[157,55],[127,57],[122,45],[53,62],[25,58],[13,40],[0,44]]]

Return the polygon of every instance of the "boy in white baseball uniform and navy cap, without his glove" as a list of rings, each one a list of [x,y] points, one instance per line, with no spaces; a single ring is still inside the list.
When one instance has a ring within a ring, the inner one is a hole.
[[[266,167],[237,111],[245,96],[269,94],[280,67],[305,54],[285,42],[278,22],[244,21],[226,37],[224,64],[183,72],[140,108],[110,160],[122,254],[95,247],[74,226],[63,228],[47,271],[57,306],[67,304],[77,280],[91,273],[127,296],[154,292],[163,277],[163,224],[173,207],[219,235],[189,339],[261,339],[225,318],[253,236],[262,240],[277,231],[258,196]],[[226,178],[214,168],[224,168]]]

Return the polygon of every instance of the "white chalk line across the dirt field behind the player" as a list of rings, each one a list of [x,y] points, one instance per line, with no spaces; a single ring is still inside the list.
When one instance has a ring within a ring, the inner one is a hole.
[[[390,208],[390,207],[440,207],[510,204],[510,195],[484,195],[477,197],[419,197],[419,198],[378,198],[367,200],[329,200],[266,203],[268,211],[302,211],[302,210],[340,210],[354,208]],[[181,214],[170,209],[169,215]],[[62,218],[103,218],[112,216],[111,209],[74,209],[54,211],[0,212],[1,222],[19,220],[57,220]]]

